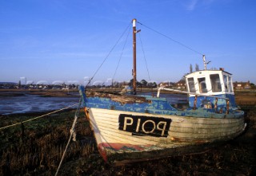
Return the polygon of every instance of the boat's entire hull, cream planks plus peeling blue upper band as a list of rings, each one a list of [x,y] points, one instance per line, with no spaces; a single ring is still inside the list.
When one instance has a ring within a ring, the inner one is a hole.
[[[82,88],[80,94],[98,151],[110,163],[202,153],[245,128],[244,112],[237,109],[228,114],[214,108],[178,111],[166,99],[152,96],[86,97]]]

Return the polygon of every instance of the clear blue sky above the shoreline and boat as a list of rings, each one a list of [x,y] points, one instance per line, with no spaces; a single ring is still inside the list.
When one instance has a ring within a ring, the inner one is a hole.
[[[178,81],[190,64],[203,68],[203,53],[208,68],[222,67],[234,81],[256,84],[254,0],[1,0],[0,81],[83,83],[133,18],[143,24],[137,25],[138,80],[149,80],[144,56],[150,80]],[[122,37],[94,81],[113,78],[121,54],[114,80],[132,78],[131,40],[130,33],[123,49]]]

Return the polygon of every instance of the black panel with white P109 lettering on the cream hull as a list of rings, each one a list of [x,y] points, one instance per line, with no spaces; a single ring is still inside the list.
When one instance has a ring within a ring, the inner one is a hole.
[[[167,137],[171,119],[144,115],[119,115],[118,130],[132,132],[133,135]]]

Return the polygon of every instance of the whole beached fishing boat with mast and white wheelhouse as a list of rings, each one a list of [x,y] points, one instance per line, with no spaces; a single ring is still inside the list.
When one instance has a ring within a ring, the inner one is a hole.
[[[244,112],[235,104],[231,74],[205,69],[185,76],[187,91],[158,88],[158,95],[136,95],[136,19],[133,20],[133,95],[86,92],[83,106],[102,158],[126,163],[206,151],[244,131]],[[161,91],[188,94],[189,107],[170,105]]]

